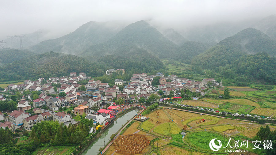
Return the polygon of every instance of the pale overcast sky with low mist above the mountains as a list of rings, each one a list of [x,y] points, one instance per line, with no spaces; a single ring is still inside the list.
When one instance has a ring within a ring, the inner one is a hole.
[[[151,20],[184,28],[276,14],[275,0],[6,0],[0,4],[0,40],[38,29],[49,30],[55,38],[88,21]]]

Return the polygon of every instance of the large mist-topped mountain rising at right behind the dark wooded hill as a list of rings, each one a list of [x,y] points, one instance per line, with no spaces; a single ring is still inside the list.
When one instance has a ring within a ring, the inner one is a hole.
[[[243,55],[260,52],[275,56],[276,43],[263,32],[255,28],[247,28],[198,55],[192,60],[192,64],[214,69],[231,64]]]

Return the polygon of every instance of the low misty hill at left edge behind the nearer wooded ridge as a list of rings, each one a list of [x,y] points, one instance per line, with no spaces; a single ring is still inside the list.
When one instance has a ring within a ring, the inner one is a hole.
[[[4,48],[0,50],[0,66],[14,61],[20,61],[21,59],[31,58],[34,55],[36,55],[36,53],[26,50]]]

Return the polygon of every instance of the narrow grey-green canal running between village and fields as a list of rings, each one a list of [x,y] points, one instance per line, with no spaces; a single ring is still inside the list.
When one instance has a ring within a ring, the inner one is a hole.
[[[95,139],[94,142],[82,153],[82,155],[97,155],[99,153],[100,147],[106,145],[112,134],[115,134],[128,120],[130,120],[134,115],[140,110],[135,108],[134,110],[121,115],[112,124],[109,125],[107,129],[101,134],[101,136]]]

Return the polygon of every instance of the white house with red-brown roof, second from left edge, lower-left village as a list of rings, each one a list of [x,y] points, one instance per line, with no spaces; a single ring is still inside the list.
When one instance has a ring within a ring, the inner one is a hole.
[[[18,129],[23,126],[23,119],[29,117],[29,114],[23,113],[22,111],[14,110],[10,115],[8,115],[8,119],[11,123],[14,123],[15,128]]]

